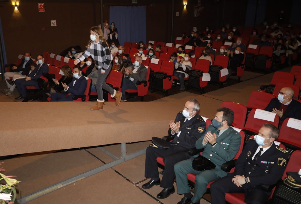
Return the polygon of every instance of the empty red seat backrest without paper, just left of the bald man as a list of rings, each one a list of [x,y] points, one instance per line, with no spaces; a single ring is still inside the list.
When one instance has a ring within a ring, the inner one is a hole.
[[[270,100],[272,100],[273,98],[275,98],[273,94],[262,91],[252,91],[247,103],[247,108],[258,108],[264,110],[265,107],[267,107],[270,103]]]

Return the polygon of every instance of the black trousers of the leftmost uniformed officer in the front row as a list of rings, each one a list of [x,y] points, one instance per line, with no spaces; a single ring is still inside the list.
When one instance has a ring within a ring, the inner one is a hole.
[[[155,147],[147,147],[145,154],[145,174],[146,178],[159,178],[157,157],[163,157],[165,164],[164,174],[160,187],[167,188],[173,186],[175,179],[174,165],[182,160],[189,159],[188,150],[184,147],[171,146],[166,150]]]

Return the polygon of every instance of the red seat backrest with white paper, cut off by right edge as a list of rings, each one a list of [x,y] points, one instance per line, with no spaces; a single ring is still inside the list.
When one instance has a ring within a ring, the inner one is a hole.
[[[301,148],[301,120],[287,118],[283,121],[278,140]]]

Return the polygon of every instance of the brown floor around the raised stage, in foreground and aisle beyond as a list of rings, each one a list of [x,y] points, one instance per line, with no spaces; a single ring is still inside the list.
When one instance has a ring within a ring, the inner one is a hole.
[[[290,68],[281,71],[289,72]],[[260,85],[269,84],[272,76],[273,73],[253,76],[244,82],[207,92],[203,95],[185,91],[160,98],[153,103],[157,101],[166,103],[172,101],[175,102],[175,109],[181,111],[186,100],[196,98],[201,104],[200,115],[212,119],[216,109],[225,100],[246,105],[250,93],[258,90]],[[0,83],[1,90],[3,90],[4,82],[1,81]],[[0,93],[1,102],[8,102],[9,100],[13,101]],[[94,102],[89,103],[94,104]],[[176,113],[171,115],[175,116]],[[172,119],[174,118],[170,120]],[[2,118],[2,124],[13,122],[8,120]],[[166,134],[167,128],[168,124],[166,124]],[[149,138],[151,137],[150,133]],[[141,150],[147,147],[149,143],[150,141],[127,144],[127,154]],[[120,157],[120,144],[103,146],[103,149]],[[113,158],[99,150],[99,147],[89,147],[81,150],[30,153],[1,161],[4,162],[7,175],[17,175],[17,179],[22,181],[20,183],[21,196],[26,196],[112,160]],[[146,182],[144,178],[144,162],[145,155],[141,155],[113,168],[64,186],[28,203],[177,203],[182,198],[182,195],[174,193],[168,198],[158,201],[156,195],[162,188],[155,186],[146,191],[141,189],[142,184]],[[159,169],[159,171],[162,171],[162,169]],[[210,194],[205,194],[204,198],[201,199],[201,203],[209,203],[208,201],[210,201]]]

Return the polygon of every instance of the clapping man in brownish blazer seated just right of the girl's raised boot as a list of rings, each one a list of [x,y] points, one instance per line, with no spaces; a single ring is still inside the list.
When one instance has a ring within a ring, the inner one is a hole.
[[[125,69],[125,74],[122,82],[122,97],[121,101],[126,101],[126,89],[137,89],[138,81],[145,81],[147,69],[141,64],[142,57],[135,57],[135,63],[132,67]]]

